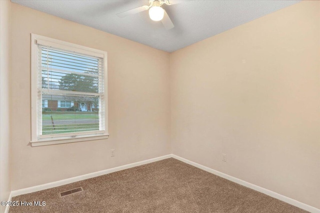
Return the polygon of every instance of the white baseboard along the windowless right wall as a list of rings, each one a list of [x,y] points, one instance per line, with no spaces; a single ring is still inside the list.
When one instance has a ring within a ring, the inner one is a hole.
[[[218,172],[218,171],[216,171],[214,169],[210,169],[208,167],[202,166],[201,164],[197,164],[195,162],[186,160],[186,159],[181,158],[179,156],[176,156],[176,155],[173,155],[173,154],[171,156],[172,156],[172,158],[175,158],[176,160],[182,161],[182,162],[187,163],[187,164],[189,164],[191,166],[197,167],[197,168],[199,168],[201,170],[204,170],[206,172],[209,172],[209,173],[212,173],[214,175],[217,175],[217,176],[219,176],[221,178],[224,178],[224,179],[227,179],[227,180],[232,181],[234,183],[240,184],[240,185],[242,185],[244,187],[247,187],[247,188],[250,188],[252,190],[258,191],[258,192],[263,193],[265,195],[268,195],[268,196],[270,196],[272,198],[278,199],[278,200],[283,201],[285,203],[288,203],[288,204],[290,204],[292,206],[298,207],[298,208],[300,208],[302,210],[308,211],[310,213],[320,213],[320,210],[315,208],[315,207],[311,207],[311,206],[303,204],[303,203],[301,203],[299,201],[296,201],[296,200],[293,200],[291,198],[285,197],[283,195],[277,194],[275,192],[272,192],[270,190],[267,190],[267,189],[264,189],[262,187],[256,186],[254,184],[250,184],[248,182],[242,181],[240,179],[237,179],[237,178],[234,178],[232,176],[226,175],[224,173]]]

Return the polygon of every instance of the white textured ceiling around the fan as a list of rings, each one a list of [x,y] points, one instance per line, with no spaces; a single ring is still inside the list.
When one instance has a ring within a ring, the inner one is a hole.
[[[173,52],[269,14],[299,0],[180,0],[163,5],[174,28],[150,20],[148,11],[120,18],[116,13],[148,0],[11,0],[67,20]]]

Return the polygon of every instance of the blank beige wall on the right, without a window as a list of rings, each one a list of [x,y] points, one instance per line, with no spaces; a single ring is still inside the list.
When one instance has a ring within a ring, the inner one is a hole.
[[[173,52],[172,153],[320,208],[319,38],[302,1]]]

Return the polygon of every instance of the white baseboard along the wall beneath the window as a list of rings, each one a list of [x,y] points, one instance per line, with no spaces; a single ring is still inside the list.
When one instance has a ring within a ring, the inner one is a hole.
[[[139,162],[135,162],[135,163],[132,163],[132,164],[127,164],[127,165],[123,165],[123,166],[119,166],[119,167],[114,167],[114,168],[111,168],[111,169],[102,170],[102,171],[98,171],[98,172],[93,172],[93,173],[89,173],[89,174],[86,174],[86,175],[81,175],[81,176],[77,176],[77,177],[73,177],[73,178],[64,179],[64,180],[61,180],[61,181],[55,181],[55,182],[51,182],[51,183],[47,183],[47,184],[34,186],[34,187],[15,190],[15,191],[11,192],[10,196],[12,198],[12,197],[15,197],[15,196],[18,196],[18,195],[24,195],[24,194],[28,194],[28,193],[32,193],[32,192],[37,192],[37,191],[41,191],[41,190],[50,189],[50,188],[53,188],[53,187],[59,187],[59,186],[65,185],[65,184],[71,184],[71,183],[74,183],[74,182],[77,182],[77,181],[83,181],[83,180],[86,180],[86,179],[89,179],[89,178],[94,178],[94,177],[97,177],[97,176],[106,175],[106,174],[109,174],[109,173],[113,173],[113,172],[117,172],[117,171],[120,171],[120,170],[129,169],[129,168],[132,168],[132,167],[141,166],[141,165],[144,165],[144,164],[160,161],[160,160],[171,158],[171,157],[172,157],[171,154],[170,155],[164,155],[164,156],[161,156],[161,157],[152,158],[152,159],[145,160],[145,161],[139,161]],[[11,201],[11,199],[10,199],[10,201]]]

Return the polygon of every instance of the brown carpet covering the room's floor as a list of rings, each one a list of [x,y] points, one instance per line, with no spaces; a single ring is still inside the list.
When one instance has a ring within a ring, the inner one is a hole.
[[[58,196],[76,187],[84,191]],[[10,207],[9,213],[305,213],[172,158],[12,201],[45,201],[46,205]]]

